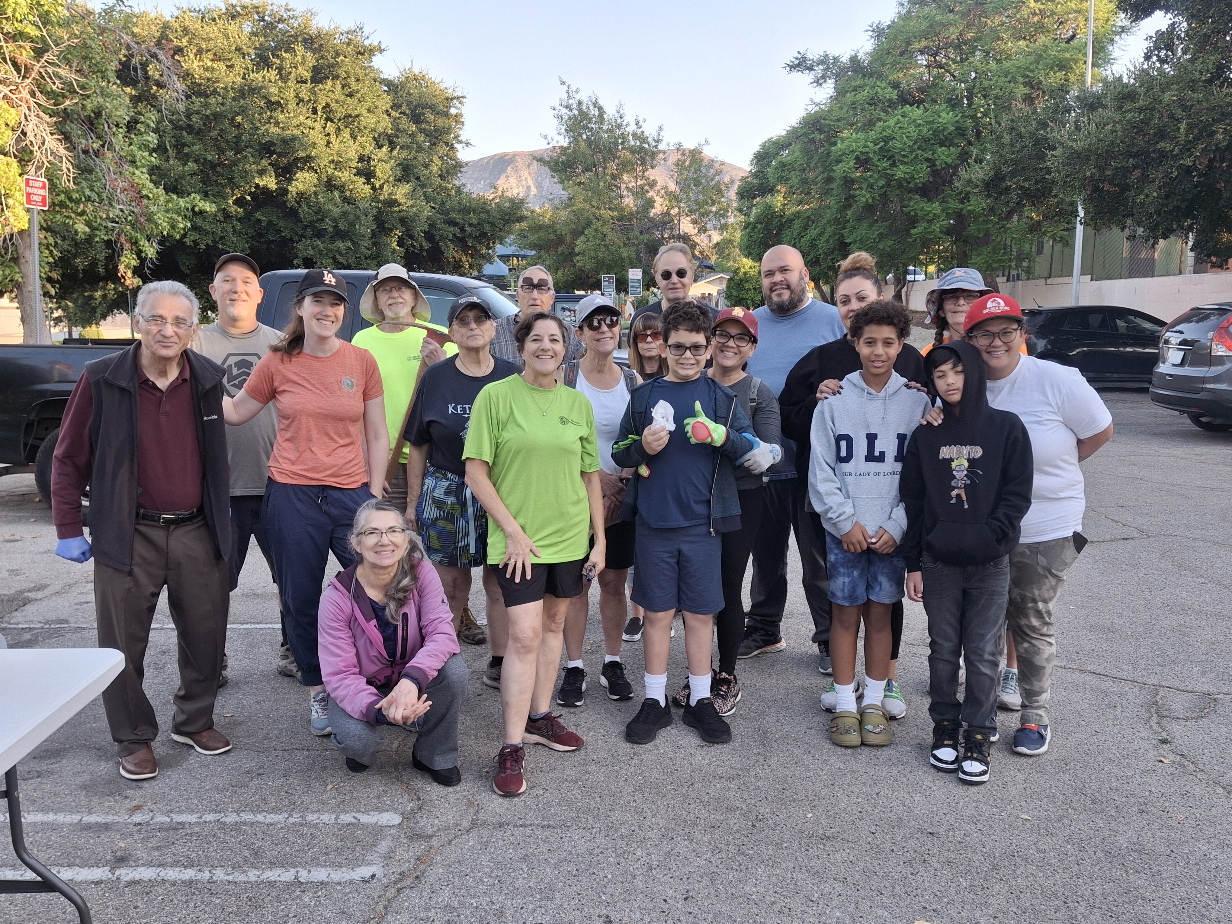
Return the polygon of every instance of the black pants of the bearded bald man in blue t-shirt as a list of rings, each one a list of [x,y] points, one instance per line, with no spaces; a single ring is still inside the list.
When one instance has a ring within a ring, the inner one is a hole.
[[[782,478],[765,485],[765,509],[753,546],[753,586],[748,633],[772,641],[782,636],[787,605],[787,540],[796,533],[803,567],[804,599],[813,617],[813,642],[830,638],[830,582],[825,572],[825,542],[804,510],[808,485],[803,478]]]

